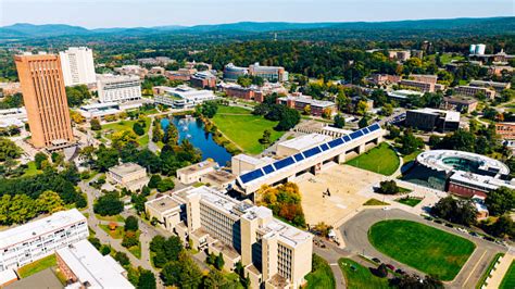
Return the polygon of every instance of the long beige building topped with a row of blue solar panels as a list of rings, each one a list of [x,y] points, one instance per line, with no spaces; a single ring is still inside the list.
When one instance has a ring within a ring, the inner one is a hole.
[[[344,163],[347,155],[366,151],[382,141],[385,130],[375,123],[340,138],[306,149],[250,172],[237,178],[238,188],[246,194],[253,193],[263,185],[276,185],[292,180],[303,173],[316,174],[329,162]]]

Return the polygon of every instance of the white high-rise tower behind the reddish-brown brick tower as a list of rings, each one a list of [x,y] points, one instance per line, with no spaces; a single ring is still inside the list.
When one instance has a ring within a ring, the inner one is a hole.
[[[59,52],[65,86],[89,85],[97,81],[93,51],[87,47],[71,47]]]

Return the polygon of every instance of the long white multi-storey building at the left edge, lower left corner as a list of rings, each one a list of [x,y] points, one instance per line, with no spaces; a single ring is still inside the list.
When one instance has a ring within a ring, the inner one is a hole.
[[[0,272],[33,263],[88,236],[87,219],[77,209],[0,231]]]

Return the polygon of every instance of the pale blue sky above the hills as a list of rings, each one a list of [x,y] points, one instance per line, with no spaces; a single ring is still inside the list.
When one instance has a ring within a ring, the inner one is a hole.
[[[0,0],[0,26],[86,28],[514,16],[515,0]]]

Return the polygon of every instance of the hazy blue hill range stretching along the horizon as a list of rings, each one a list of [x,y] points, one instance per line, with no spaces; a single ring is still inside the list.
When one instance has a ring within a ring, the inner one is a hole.
[[[159,34],[263,34],[273,32],[316,30],[366,32],[366,30],[419,30],[419,32],[459,32],[463,34],[514,34],[515,17],[490,18],[453,18],[453,20],[418,20],[392,22],[347,22],[347,23],[287,23],[287,22],[239,22],[229,24],[197,26],[156,26],[131,28],[98,28],[87,29],[64,24],[14,24],[0,27],[0,39],[29,39],[56,36],[140,36]]]

